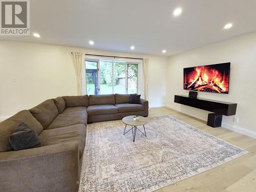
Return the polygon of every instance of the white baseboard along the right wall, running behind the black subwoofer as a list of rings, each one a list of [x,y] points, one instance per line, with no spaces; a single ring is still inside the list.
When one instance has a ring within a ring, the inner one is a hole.
[[[176,110],[178,112],[181,112],[180,109],[176,108],[175,106],[167,104],[166,107],[170,108],[170,109],[173,109],[173,110]],[[181,113],[184,113],[184,112],[181,112]],[[188,113],[184,113],[184,114],[196,117],[196,118],[204,120],[204,121],[207,121],[207,119],[199,117],[199,116],[197,116],[195,114],[194,115],[191,115],[191,114],[188,114]],[[256,132],[248,130],[248,129],[245,129],[243,127],[240,127],[240,126],[237,126],[237,125],[233,125],[233,124],[230,124],[230,123],[226,123],[226,122],[222,122],[221,126],[226,128],[226,129],[228,129],[228,130],[231,130],[231,131],[234,131],[234,132],[238,132],[238,133],[241,133],[243,135],[247,135],[247,136],[252,137],[252,138],[256,138]]]

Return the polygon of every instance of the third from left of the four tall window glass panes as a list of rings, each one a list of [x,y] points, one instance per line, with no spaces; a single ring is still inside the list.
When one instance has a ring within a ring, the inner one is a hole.
[[[125,62],[114,62],[114,93],[125,94]]]

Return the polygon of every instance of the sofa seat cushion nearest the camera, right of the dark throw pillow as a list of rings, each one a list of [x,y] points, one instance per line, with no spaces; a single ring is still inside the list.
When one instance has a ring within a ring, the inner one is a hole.
[[[76,124],[53,130],[44,130],[39,135],[39,138],[43,146],[76,141],[81,158],[86,144],[86,126],[84,124]]]

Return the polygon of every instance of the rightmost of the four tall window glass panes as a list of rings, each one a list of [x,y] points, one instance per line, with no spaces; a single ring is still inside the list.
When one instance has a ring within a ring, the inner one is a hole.
[[[127,93],[137,93],[138,87],[138,65],[128,64],[127,65]]]

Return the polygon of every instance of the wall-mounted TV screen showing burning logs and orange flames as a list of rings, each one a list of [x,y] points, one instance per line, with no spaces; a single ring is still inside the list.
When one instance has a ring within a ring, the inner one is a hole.
[[[230,62],[184,68],[184,89],[228,93]]]

